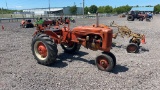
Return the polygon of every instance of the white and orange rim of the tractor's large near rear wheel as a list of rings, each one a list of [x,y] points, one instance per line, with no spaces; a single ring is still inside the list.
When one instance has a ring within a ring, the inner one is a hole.
[[[45,44],[41,41],[37,41],[34,44],[34,51],[35,55],[40,59],[40,60],[45,60],[48,56],[48,50]]]

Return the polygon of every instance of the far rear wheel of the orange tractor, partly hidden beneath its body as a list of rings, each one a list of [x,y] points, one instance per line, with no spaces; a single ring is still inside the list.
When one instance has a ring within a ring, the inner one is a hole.
[[[75,42],[70,42],[68,45],[61,44],[61,47],[66,53],[75,53],[79,51],[81,45]]]

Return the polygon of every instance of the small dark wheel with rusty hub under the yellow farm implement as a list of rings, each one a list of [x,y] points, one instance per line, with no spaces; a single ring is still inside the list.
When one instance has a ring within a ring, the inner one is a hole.
[[[127,45],[126,48],[128,53],[138,53],[139,52],[139,46],[135,43],[130,43]]]

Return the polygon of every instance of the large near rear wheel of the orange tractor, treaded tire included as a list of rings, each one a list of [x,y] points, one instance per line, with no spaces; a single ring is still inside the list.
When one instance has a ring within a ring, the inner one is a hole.
[[[31,43],[32,54],[39,64],[51,65],[57,58],[57,45],[46,34],[38,34]]]

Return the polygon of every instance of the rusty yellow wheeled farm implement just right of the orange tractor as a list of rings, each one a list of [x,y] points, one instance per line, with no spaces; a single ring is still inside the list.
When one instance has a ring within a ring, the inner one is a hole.
[[[129,40],[129,45],[127,46],[126,50],[128,53],[138,53],[139,52],[139,45],[145,44],[145,35],[139,34],[139,33],[134,33],[132,32],[127,26],[119,26],[114,23],[114,21],[110,24],[111,27],[117,27],[118,32],[113,34],[113,38],[116,39],[118,34],[122,38],[126,37],[132,37]]]

